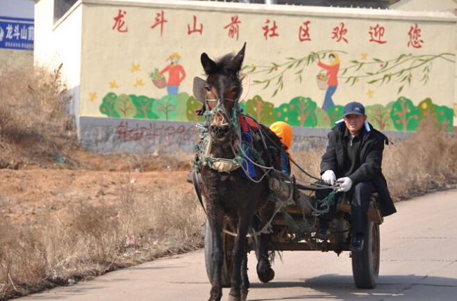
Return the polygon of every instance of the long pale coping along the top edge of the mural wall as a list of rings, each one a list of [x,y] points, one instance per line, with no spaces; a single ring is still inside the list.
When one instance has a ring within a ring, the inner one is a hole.
[[[419,12],[406,10],[385,10],[367,8],[335,8],[321,6],[290,6],[267,5],[256,3],[227,3],[213,1],[185,0],[78,0],[78,3],[97,6],[142,6],[172,9],[206,10],[206,11],[235,11],[240,13],[264,13],[274,15],[303,15],[316,17],[347,17],[376,19],[399,19],[429,22],[457,22],[457,17],[449,12]],[[70,12],[68,12],[70,13]]]

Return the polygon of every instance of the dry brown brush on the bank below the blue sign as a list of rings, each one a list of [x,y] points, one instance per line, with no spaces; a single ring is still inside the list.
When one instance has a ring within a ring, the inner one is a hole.
[[[0,70],[0,168],[18,168],[30,157],[53,159],[76,145],[72,116],[65,111],[69,102],[65,92],[60,68]]]

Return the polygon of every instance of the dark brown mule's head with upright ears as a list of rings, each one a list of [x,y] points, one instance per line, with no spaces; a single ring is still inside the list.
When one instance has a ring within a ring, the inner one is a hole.
[[[244,59],[244,43],[235,56],[226,54],[217,61],[211,60],[208,54],[201,54],[201,65],[206,72],[206,82],[203,86],[206,110],[210,111],[208,130],[213,138],[222,138],[228,130],[229,122],[236,118],[233,108],[238,106],[242,93],[239,76]]]

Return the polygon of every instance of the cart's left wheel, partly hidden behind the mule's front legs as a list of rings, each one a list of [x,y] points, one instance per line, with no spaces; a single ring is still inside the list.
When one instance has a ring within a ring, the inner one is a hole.
[[[224,229],[227,229],[227,222],[224,221],[222,225]],[[235,243],[235,238],[231,235],[225,234],[222,232],[222,250],[224,250],[224,261],[222,263],[222,275],[221,275],[221,285],[222,287],[231,286],[231,275],[232,275],[232,250]],[[206,275],[211,281],[211,275],[213,275],[214,265],[213,260],[211,259],[211,254],[213,254],[213,236],[211,235],[211,228],[206,221],[205,226],[205,264],[206,264]]]

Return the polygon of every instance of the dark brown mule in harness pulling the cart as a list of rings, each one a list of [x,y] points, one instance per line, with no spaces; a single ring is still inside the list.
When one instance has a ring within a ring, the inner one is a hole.
[[[273,146],[281,145],[281,140],[268,127],[258,124],[258,133],[251,131],[250,138],[243,138],[240,122],[245,116],[240,112],[238,101],[242,94],[240,69],[245,47],[246,43],[238,54],[226,54],[219,60],[201,54],[201,65],[206,73],[203,85],[206,122],[203,127],[207,143],[206,155],[204,158],[201,155],[196,161],[201,163],[201,193],[206,202],[213,241],[211,259],[215,268],[210,275],[210,301],[222,298],[222,228],[225,218],[236,232],[228,300],[246,299],[249,288],[248,228],[261,229],[272,215],[274,202],[269,199],[269,179],[273,170],[281,170],[281,150]],[[242,164],[233,163],[237,155],[244,161]],[[267,234],[260,234],[260,245],[256,250],[257,272],[263,282],[274,277],[268,258],[268,240]]]

